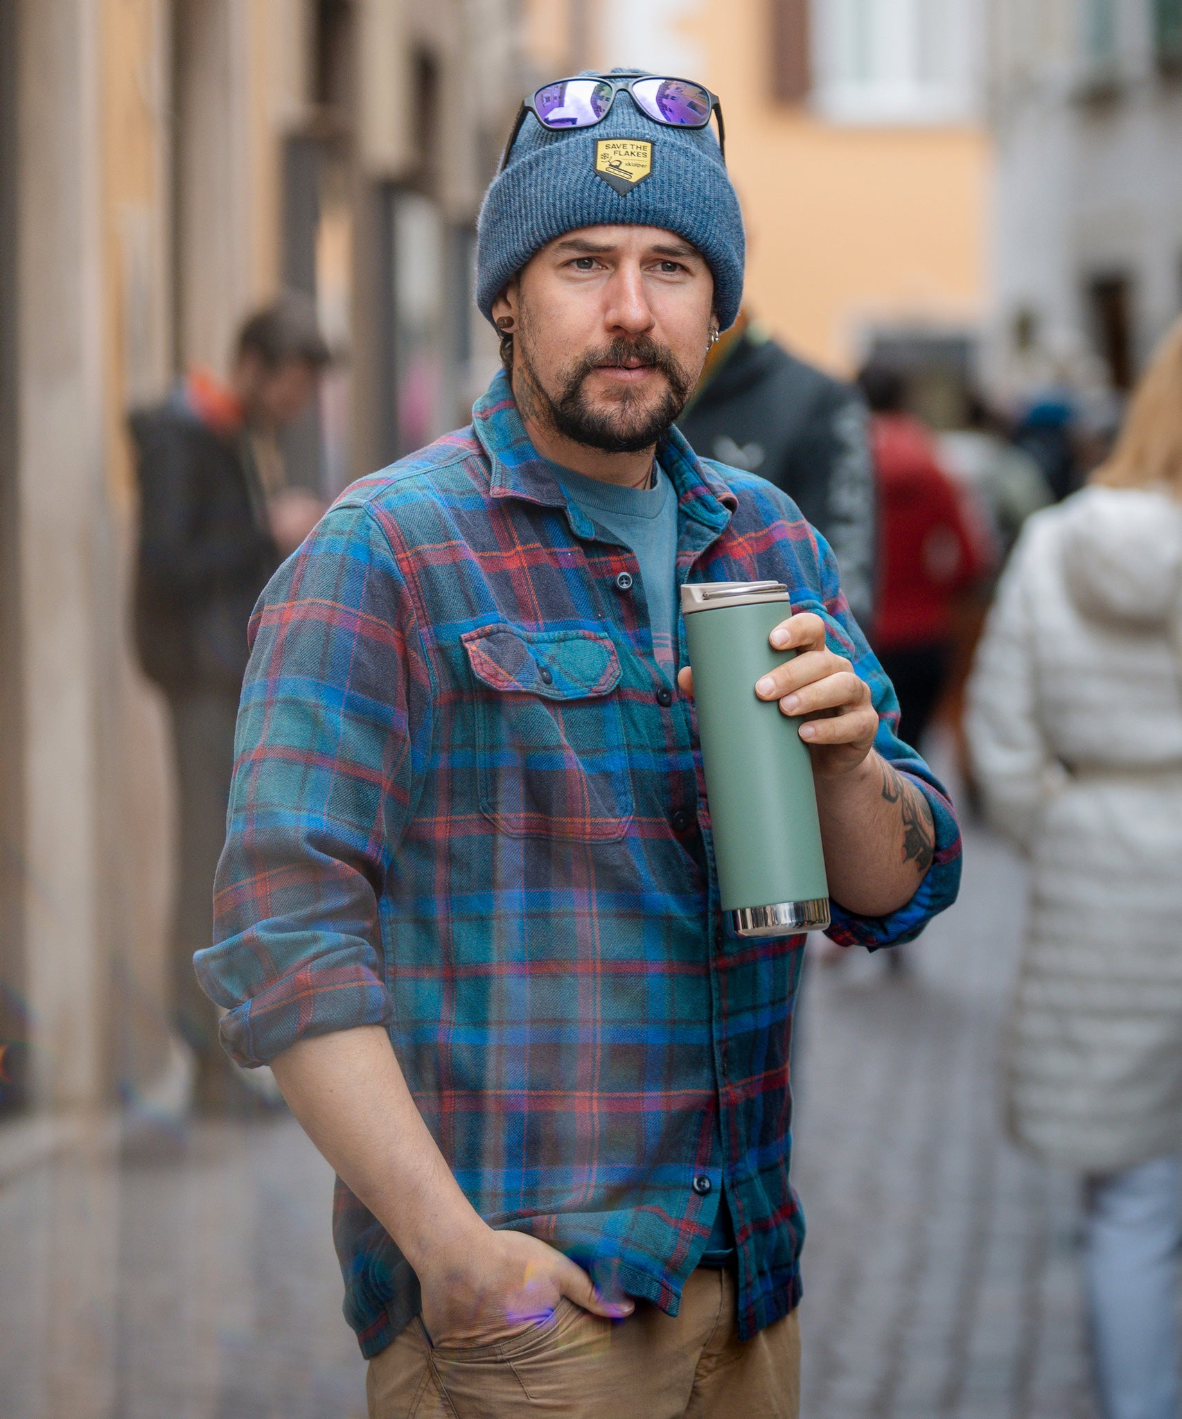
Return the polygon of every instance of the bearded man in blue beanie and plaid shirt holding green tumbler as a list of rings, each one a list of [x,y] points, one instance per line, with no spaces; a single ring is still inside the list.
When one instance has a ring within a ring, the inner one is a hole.
[[[802,607],[753,690],[809,717],[834,932],[904,939],[956,891],[829,549],[671,427],[744,234],[709,129],[636,79],[595,79],[593,126],[525,119],[478,231],[507,370],[254,620],[197,962],[339,1175],[382,1419],[796,1413],[800,939],[725,937],[678,582]]]

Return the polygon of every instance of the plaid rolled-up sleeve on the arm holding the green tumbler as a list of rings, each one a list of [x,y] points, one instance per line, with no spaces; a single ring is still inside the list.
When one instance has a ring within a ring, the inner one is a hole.
[[[935,826],[931,867],[924,874],[915,895],[898,911],[887,917],[860,917],[857,912],[846,911],[836,901],[830,904],[832,924],[826,935],[843,946],[863,945],[876,951],[878,946],[914,941],[932,917],[956,900],[961,888],[961,827],[944,785],[917,751],[898,738],[895,732],[898,700],[894,688],[857,622],[850,616],[839,586],[833,552],[824,538],[817,535],[816,541],[823,604],[795,604],[793,610],[817,612],[826,622],[830,650],[846,656],[860,678],[870,685],[874,708],[878,712],[874,748],[919,789],[928,800]]]

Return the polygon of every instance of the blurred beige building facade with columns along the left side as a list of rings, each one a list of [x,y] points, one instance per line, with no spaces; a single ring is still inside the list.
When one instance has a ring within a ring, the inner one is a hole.
[[[280,287],[342,362],[325,494],[461,423],[514,0],[0,0],[0,1112],[166,1057],[170,766],[128,633],[132,404]]]

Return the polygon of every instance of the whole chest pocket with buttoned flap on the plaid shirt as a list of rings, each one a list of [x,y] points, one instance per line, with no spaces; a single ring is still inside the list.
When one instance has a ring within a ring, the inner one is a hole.
[[[463,641],[478,681],[485,817],[509,837],[623,837],[633,799],[612,641],[505,624],[467,631]]]

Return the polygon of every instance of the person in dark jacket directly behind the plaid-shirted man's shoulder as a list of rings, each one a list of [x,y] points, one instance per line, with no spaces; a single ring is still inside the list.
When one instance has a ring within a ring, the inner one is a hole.
[[[858,392],[772,339],[746,315],[719,339],[677,427],[705,458],[786,492],[833,548],[850,610],[874,610],[874,470]]]

